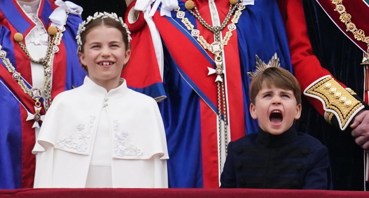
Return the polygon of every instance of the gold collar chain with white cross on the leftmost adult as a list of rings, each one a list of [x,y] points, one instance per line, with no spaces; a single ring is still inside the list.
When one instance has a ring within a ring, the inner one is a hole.
[[[68,15],[67,15],[68,17]],[[22,50],[25,52],[28,58],[32,62],[41,64],[44,66],[44,75],[45,79],[42,82],[41,87],[32,87],[29,89],[22,79],[22,76],[19,72],[17,72],[13,66],[13,64],[10,62],[10,60],[6,57],[6,51],[2,50],[2,46],[0,45],[0,58],[3,60],[4,65],[8,69],[8,71],[11,73],[14,80],[17,81],[21,89],[24,91],[25,94],[28,94],[34,101],[35,101],[35,114],[32,115],[31,119],[35,121],[35,124],[33,127],[39,127],[38,121],[42,120],[43,116],[40,114],[41,112],[41,97],[42,93],[45,93],[45,111],[48,110],[49,105],[51,104],[51,74],[52,74],[52,60],[54,58],[54,54],[59,51],[58,45],[61,43],[61,39],[63,36],[63,33],[65,31],[65,28],[62,30],[58,30],[58,28],[54,26],[50,26],[48,28],[49,33],[49,39],[48,39],[48,50],[46,52],[46,56],[44,58],[40,58],[39,60],[34,60],[31,58],[30,54],[28,53],[27,48],[22,43],[23,41],[23,35],[21,33],[15,33],[14,34],[14,40],[18,42]],[[51,39],[51,36],[53,38]],[[31,120],[30,116],[28,116],[27,120]],[[33,128],[32,127],[32,128]]]

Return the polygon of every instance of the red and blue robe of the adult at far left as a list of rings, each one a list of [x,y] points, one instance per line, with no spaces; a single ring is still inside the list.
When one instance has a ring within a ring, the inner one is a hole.
[[[49,15],[58,6],[51,0],[41,0],[38,17],[47,30]],[[86,72],[83,71],[76,54],[76,32],[82,19],[68,15],[59,51],[52,65],[52,90],[54,98],[64,90],[82,85]],[[15,0],[0,0],[0,44],[6,57],[27,84],[32,87],[31,61],[13,36],[20,32],[27,36],[35,24],[27,17]],[[23,40],[24,42],[24,40]],[[25,94],[0,60],[0,189],[33,187],[35,155],[34,120],[26,121],[27,112],[35,114],[35,101]],[[41,115],[45,111],[42,108]],[[68,124],[68,123],[66,123]]]

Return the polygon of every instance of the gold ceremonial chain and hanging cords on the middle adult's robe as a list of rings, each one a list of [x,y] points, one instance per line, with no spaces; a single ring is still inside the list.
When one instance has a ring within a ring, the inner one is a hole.
[[[190,4],[190,6],[187,6],[187,3]],[[179,7],[174,9],[177,12],[177,18],[180,18],[184,26],[188,30],[191,31],[191,35],[193,37],[196,37],[197,41],[203,46],[205,49],[209,50],[211,53],[215,55],[215,64],[216,69],[208,68],[209,74],[217,74],[217,79],[215,82],[217,82],[217,92],[218,92],[218,130],[219,130],[219,160],[221,161],[221,131],[222,131],[222,110],[223,110],[223,121],[224,121],[224,138],[225,138],[225,155],[227,156],[228,152],[228,124],[227,124],[227,104],[226,104],[226,97],[225,97],[225,87],[224,87],[224,69],[223,69],[223,58],[222,58],[222,51],[224,49],[224,46],[228,44],[228,41],[230,40],[232,36],[232,31],[236,29],[236,25],[238,22],[239,17],[242,14],[242,10],[245,9],[245,6],[241,3],[238,3],[237,1],[234,1],[234,3],[230,4],[230,8],[228,10],[228,13],[224,19],[224,21],[221,23],[220,26],[211,26],[209,25],[200,15],[199,10],[197,10],[196,6],[194,6],[193,1],[187,1],[186,2],[186,8],[187,10],[196,17],[200,24],[203,25],[205,28],[210,30],[214,33],[215,40],[213,43],[209,44],[203,36],[200,35],[200,31],[198,29],[194,29],[194,25],[190,22],[188,18],[186,18],[185,12],[180,11]],[[238,8],[237,11],[236,8]],[[192,11],[194,9],[194,12]],[[234,13],[233,18],[232,13]],[[231,20],[231,24],[228,24],[228,22]],[[225,36],[223,40],[221,40],[220,32],[227,26],[228,31],[225,33]],[[223,108],[222,108],[223,106]]]

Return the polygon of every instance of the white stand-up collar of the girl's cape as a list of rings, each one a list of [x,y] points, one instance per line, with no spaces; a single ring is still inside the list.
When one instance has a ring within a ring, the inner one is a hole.
[[[109,92],[104,88],[96,83],[94,83],[88,76],[85,77],[83,81],[83,90],[86,90],[89,94],[96,96],[96,97],[108,97],[111,99],[121,98],[128,94],[129,90],[127,87],[127,82],[124,78],[120,78],[120,86],[117,88],[111,89]]]

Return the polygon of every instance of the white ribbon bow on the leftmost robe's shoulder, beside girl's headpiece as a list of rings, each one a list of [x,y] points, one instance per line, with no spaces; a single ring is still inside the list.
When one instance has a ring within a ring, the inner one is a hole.
[[[56,26],[59,29],[64,28],[67,14],[70,13],[70,14],[77,14],[81,16],[82,11],[83,11],[82,7],[70,1],[64,2],[62,0],[56,0],[55,5],[59,7],[55,8],[55,10],[49,16],[49,19],[51,21],[51,25]]]

